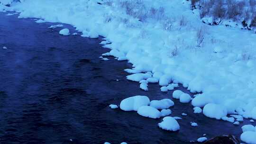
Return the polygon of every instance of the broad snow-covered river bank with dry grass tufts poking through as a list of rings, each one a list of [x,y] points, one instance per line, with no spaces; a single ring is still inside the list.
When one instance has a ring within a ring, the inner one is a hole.
[[[139,20],[127,15],[117,1],[100,5],[95,0],[27,0],[7,9],[21,12],[20,18],[72,24],[84,36],[105,36],[111,44],[104,47],[113,49],[110,54],[134,64],[127,72],[152,72],[150,76],[162,86],[179,82],[192,92],[202,91],[192,99],[194,106],[214,103],[229,114],[254,118],[256,36],[238,29],[204,26],[204,40],[197,47],[198,29],[203,25],[189,10],[188,2],[145,0],[144,5],[145,9],[163,7],[165,17],[174,18],[172,27],[164,27],[165,19]],[[182,21],[186,25],[180,26]]]

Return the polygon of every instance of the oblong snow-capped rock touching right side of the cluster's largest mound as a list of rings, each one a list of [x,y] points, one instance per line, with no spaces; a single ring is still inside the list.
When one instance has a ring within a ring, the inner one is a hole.
[[[152,100],[150,106],[156,109],[167,109],[174,106],[174,102],[171,99]]]

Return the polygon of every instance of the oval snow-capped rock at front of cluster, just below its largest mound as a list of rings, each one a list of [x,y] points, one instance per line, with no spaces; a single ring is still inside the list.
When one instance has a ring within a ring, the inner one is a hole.
[[[139,107],[137,113],[140,116],[149,117],[149,118],[159,118],[161,116],[161,113],[159,110],[150,106]]]

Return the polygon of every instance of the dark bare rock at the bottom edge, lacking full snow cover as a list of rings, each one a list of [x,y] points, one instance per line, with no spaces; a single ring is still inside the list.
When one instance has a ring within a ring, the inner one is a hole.
[[[220,135],[211,138],[203,144],[240,144],[240,142],[234,135]]]

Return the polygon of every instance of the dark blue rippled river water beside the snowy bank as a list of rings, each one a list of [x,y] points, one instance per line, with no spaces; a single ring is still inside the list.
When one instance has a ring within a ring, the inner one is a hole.
[[[193,114],[191,104],[175,99],[171,116],[183,117],[178,132],[160,129],[162,118],[110,109],[134,95],[172,99],[173,91],[161,92],[158,84],[140,90],[123,71],[131,64],[99,59],[110,51],[101,38],[60,36],[61,28],[47,28],[52,23],[6,14],[0,13],[0,144],[189,144],[203,134],[241,134],[241,125]]]

